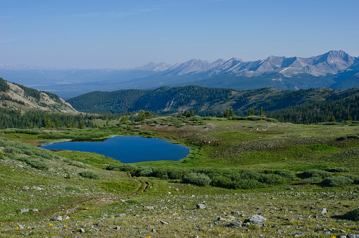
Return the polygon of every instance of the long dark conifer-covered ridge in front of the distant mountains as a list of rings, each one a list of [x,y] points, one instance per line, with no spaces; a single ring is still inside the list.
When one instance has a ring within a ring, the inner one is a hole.
[[[92,92],[74,97],[71,103],[80,112],[125,113],[150,110],[157,114],[175,114],[193,108],[195,114],[217,116],[232,107],[238,116],[248,114],[250,108],[259,114],[260,108],[270,117],[293,123],[328,121],[331,113],[343,121],[348,115],[359,119],[359,89],[332,90],[231,90],[185,87],[162,87],[155,90],[118,90]]]

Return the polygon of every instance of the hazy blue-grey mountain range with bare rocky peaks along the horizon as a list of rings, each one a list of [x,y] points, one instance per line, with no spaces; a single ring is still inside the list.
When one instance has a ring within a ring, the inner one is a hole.
[[[359,87],[359,57],[330,51],[309,58],[269,56],[257,61],[239,58],[210,62],[191,59],[178,64],[148,63],[135,69],[42,69],[0,65],[7,81],[56,93],[68,99],[95,90],[151,89],[161,86],[250,90],[298,90]]]

